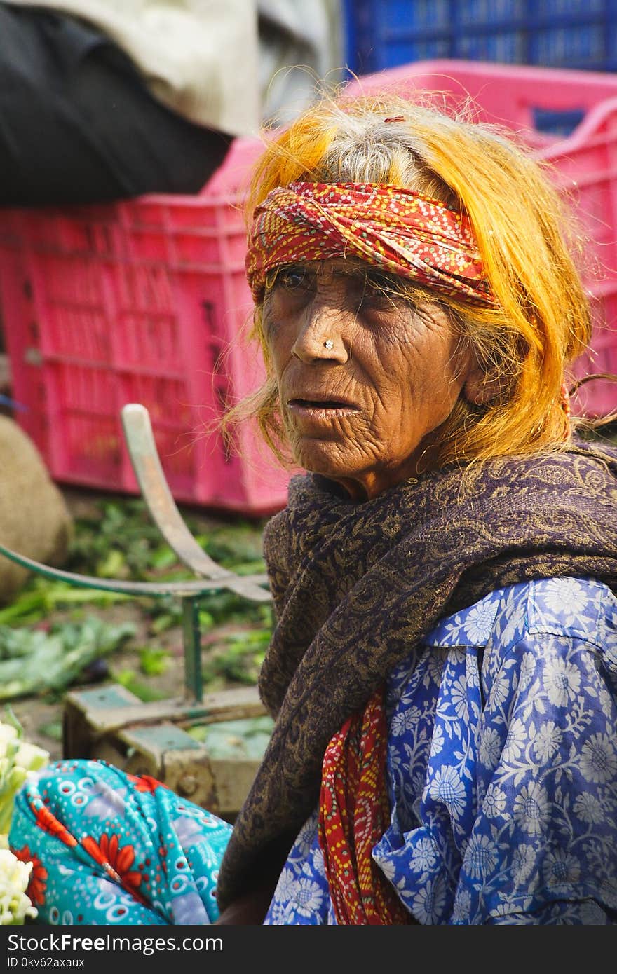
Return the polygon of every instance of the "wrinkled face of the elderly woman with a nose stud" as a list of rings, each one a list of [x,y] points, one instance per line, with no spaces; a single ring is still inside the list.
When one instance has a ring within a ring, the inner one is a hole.
[[[433,433],[472,373],[443,311],[384,295],[384,279],[342,259],[293,265],[263,307],[293,458],[355,500],[431,466]]]

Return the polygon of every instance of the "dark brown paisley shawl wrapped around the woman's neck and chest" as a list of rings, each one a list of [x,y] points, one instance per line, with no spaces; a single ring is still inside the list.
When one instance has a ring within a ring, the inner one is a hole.
[[[617,449],[501,458],[405,481],[363,504],[293,478],[267,524],[278,623],[259,677],[276,717],[218,878],[224,909],[277,875],[317,805],[324,751],[439,618],[552,576],[617,590]]]

